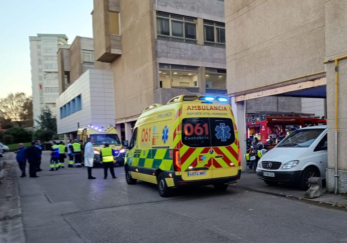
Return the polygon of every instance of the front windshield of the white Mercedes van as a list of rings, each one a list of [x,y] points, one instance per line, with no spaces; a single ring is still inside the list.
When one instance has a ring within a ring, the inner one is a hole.
[[[283,139],[277,147],[309,147],[325,129],[298,129]]]

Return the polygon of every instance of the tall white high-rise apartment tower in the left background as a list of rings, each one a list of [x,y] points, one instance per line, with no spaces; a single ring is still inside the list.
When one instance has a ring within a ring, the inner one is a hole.
[[[67,45],[67,40],[64,34],[29,36],[34,126],[37,126],[35,120],[44,106],[50,107],[56,115],[59,96],[57,50]]]

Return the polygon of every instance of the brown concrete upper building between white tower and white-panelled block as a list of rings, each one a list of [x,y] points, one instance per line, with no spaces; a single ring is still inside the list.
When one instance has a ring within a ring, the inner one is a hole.
[[[94,68],[94,41],[76,36],[71,45],[58,49],[59,94],[73,84],[87,69]]]

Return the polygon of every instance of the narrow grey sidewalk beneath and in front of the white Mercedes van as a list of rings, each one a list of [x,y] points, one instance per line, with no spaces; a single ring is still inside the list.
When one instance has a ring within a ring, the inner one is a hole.
[[[304,198],[305,191],[299,190],[296,186],[286,184],[279,184],[277,186],[267,185],[265,182],[259,179],[253,171],[243,172],[241,174],[241,179],[239,179],[238,183],[234,186],[245,190],[285,196],[347,210],[347,195],[326,193],[325,188],[323,188],[323,195],[319,198],[306,199]]]

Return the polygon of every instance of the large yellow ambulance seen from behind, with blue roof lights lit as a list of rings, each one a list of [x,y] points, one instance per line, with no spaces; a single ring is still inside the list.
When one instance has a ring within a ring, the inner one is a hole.
[[[228,98],[180,95],[140,115],[125,158],[126,181],[157,184],[162,197],[185,185],[225,190],[240,178],[239,154]]]

